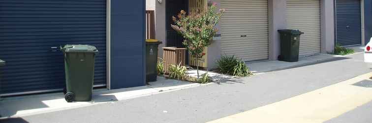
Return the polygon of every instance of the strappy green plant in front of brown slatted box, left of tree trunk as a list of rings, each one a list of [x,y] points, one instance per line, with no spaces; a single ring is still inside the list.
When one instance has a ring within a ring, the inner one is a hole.
[[[169,78],[184,80],[187,76],[186,66],[182,66],[181,62],[178,65],[170,64],[169,65]]]

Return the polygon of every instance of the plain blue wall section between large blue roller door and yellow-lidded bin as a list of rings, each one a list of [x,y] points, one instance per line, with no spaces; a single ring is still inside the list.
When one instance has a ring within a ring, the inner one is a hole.
[[[111,0],[111,89],[145,85],[145,0]]]

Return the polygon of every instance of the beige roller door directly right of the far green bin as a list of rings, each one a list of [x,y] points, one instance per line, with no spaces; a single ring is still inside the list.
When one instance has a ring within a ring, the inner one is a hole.
[[[320,1],[287,0],[287,29],[305,32],[301,35],[300,56],[320,53]]]

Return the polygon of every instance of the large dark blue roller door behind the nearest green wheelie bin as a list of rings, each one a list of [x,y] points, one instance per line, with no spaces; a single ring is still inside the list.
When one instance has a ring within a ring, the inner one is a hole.
[[[94,85],[106,84],[106,0],[1,0],[2,95],[61,90],[63,56],[51,47],[91,44]]]

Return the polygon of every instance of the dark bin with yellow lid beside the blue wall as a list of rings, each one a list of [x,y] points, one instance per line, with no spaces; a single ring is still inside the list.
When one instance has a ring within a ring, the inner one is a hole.
[[[157,78],[157,50],[161,44],[155,39],[146,40],[146,82],[155,82]]]

